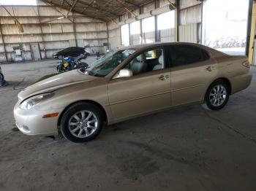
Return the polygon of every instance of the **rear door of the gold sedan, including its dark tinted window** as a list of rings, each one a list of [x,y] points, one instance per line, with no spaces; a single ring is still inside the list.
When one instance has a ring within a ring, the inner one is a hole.
[[[172,106],[202,101],[217,76],[217,62],[200,47],[180,44],[169,50]]]

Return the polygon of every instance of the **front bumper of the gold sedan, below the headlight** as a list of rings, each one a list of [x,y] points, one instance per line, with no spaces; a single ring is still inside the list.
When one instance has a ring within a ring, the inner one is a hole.
[[[58,117],[42,118],[45,114],[56,113],[58,111],[39,111],[37,109],[20,109],[19,102],[13,110],[15,124],[18,129],[26,135],[57,135]],[[60,113],[59,113],[60,114]]]

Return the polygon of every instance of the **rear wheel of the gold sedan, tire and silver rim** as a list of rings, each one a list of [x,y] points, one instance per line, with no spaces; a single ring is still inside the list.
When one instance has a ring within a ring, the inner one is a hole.
[[[217,79],[211,83],[206,92],[205,104],[208,109],[222,109],[230,97],[230,85],[222,79]]]

